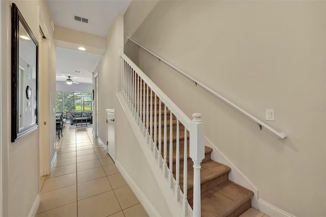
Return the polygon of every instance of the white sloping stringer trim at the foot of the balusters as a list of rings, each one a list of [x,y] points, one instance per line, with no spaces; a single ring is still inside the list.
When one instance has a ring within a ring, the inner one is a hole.
[[[174,195],[175,194],[174,188],[170,188],[170,186],[168,184],[168,177],[164,177],[163,173],[161,172],[161,169],[157,165],[157,161],[155,160],[155,158],[153,158],[153,153],[151,152],[150,149],[148,149],[148,146],[140,145],[140,144],[147,144],[146,138],[144,138],[143,133],[139,130],[139,126],[134,121],[134,118],[133,118],[132,114],[130,113],[129,107],[128,107],[127,103],[125,102],[124,97],[121,94],[121,92],[116,93],[116,95],[118,97],[118,100],[122,107],[122,110],[123,110],[124,114],[126,115],[126,118],[130,124],[130,128],[131,128],[135,138],[138,141],[138,145],[145,155],[148,166],[150,167],[157,184],[159,186],[161,186],[159,189],[161,191],[161,194],[164,196],[164,198],[162,198],[162,199],[166,201],[173,216],[183,216],[182,200],[180,200],[179,202],[176,202],[175,195]],[[116,160],[119,160],[119,159],[117,158]],[[188,205],[188,216],[189,217],[193,216],[193,210],[189,205]]]

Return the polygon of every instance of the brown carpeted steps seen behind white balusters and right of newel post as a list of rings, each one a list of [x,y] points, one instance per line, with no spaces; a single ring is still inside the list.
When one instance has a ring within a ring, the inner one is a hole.
[[[146,95],[145,95],[146,97]],[[154,101],[154,100],[153,100]],[[157,98],[157,102],[159,99]],[[157,107],[157,106],[156,106]],[[164,109],[162,103],[161,108]],[[154,107],[153,107],[154,110]],[[164,113],[164,111],[161,111]],[[163,117],[163,116],[162,116]],[[170,113],[167,112],[167,117],[170,118]],[[158,118],[157,118],[158,119]],[[173,174],[175,178],[176,168],[176,117],[172,116],[173,120]],[[158,122],[158,120],[157,120]],[[167,125],[170,126],[170,119],[167,120]],[[163,132],[164,126],[161,131]],[[170,127],[168,130],[168,138],[170,138]],[[183,135],[184,126],[179,123],[179,134]],[[158,137],[157,137],[158,138]],[[163,137],[161,137],[163,138]],[[187,141],[189,141],[189,134],[187,134]],[[180,137],[180,180],[183,180],[183,150],[184,150],[184,138]],[[164,143],[161,139],[161,144]],[[168,139],[168,143],[170,139]],[[157,144],[159,143],[157,139]],[[189,144],[189,142],[187,142]],[[158,145],[157,145],[158,148]],[[254,195],[252,191],[244,188],[228,179],[228,173],[231,169],[228,166],[213,161],[210,158],[212,148],[205,146],[205,158],[201,163],[201,215],[202,216],[239,216],[244,211],[251,207],[251,197]],[[187,153],[189,153],[189,145],[187,145]],[[170,152],[167,151],[167,163],[169,167]],[[193,161],[187,154],[187,199],[188,203],[193,207],[193,181],[194,181],[194,169]],[[170,168],[170,167],[169,167]],[[183,189],[183,182],[180,181],[180,189]]]

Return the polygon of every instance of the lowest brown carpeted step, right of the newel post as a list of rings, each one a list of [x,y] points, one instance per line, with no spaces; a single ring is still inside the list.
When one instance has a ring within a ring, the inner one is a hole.
[[[238,216],[251,207],[252,191],[225,181],[201,194],[202,216]],[[248,207],[249,206],[249,207]]]

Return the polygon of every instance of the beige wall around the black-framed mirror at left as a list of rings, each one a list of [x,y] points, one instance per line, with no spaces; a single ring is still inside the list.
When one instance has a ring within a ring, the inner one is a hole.
[[[50,30],[46,1],[2,1],[2,126],[3,133],[3,216],[28,216],[39,194],[39,130],[11,143],[11,3],[14,2],[36,39],[39,39],[40,11]],[[55,74],[55,45],[50,34],[48,73]],[[54,58],[54,59],[53,59]],[[55,83],[54,83],[55,87]],[[53,89],[53,87],[52,87]],[[51,89],[51,90],[52,90]],[[54,88],[55,90],[55,88]],[[52,105],[55,98],[51,97]],[[50,115],[49,115],[50,116]],[[54,116],[53,116],[54,117]],[[52,138],[54,139],[54,138]],[[52,153],[53,154],[53,153]]]

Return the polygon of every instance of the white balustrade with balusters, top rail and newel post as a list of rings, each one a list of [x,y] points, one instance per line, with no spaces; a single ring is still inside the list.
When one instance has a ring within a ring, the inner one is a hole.
[[[204,125],[201,114],[195,113],[193,120],[189,119],[121,50],[119,56],[121,57],[121,93],[143,132],[153,157],[157,159],[158,168],[166,177],[170,188],[174,188],[175,200],[181,202],[184,216],[188,214],[187,150],[189,146],[189,156],[194,162],[193,216],[201,216],[200,164],[205,155]],[[180,129],[181,127],[184,129]],[[183,149],[180,148],[182,145]],[[173,162],[173,149],[175,149],[175,162]],[[183,165],[180,165],[180,151],[183,151]],[[181,182],[180,166],[183,166]],[[180,184],[183,185],[182,191]]]

